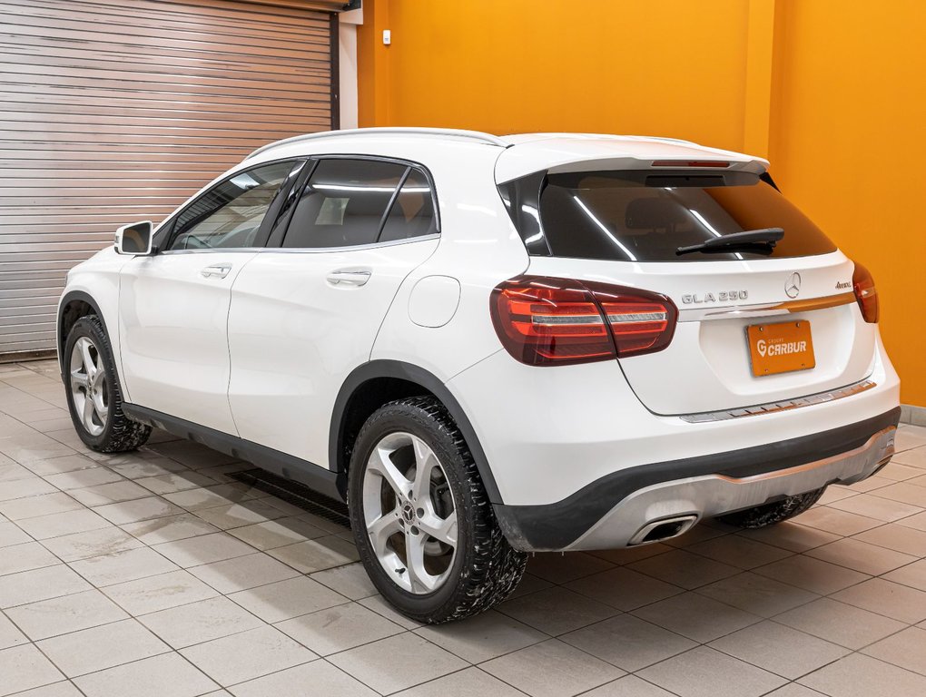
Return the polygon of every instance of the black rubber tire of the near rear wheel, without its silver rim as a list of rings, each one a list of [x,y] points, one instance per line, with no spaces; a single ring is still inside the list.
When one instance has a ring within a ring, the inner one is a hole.
[[[385,573],[367,534],[362,504],[369,456],[382,438],[406,432],[431,447],[444,470],[457,512],[457,554],[443,585],[429,594],[401,588]],[[348,471],[351,528],[369,578],[390,604],[419,622],[439,624],[476,615],[518,587],[527,554],[513,549],[495,519],[472,454],[437,399],[410,397],[376,411],[360,429]]]

